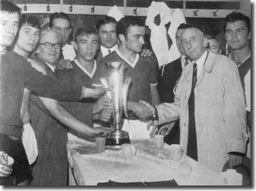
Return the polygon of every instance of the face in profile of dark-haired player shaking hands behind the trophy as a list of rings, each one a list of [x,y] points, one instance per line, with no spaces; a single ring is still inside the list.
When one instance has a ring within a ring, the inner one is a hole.
[[[145,43],[144,36],[144,26],[130,26],[124,41],[126,48],[130,51],[139,53],[142,50],[143,44]]]

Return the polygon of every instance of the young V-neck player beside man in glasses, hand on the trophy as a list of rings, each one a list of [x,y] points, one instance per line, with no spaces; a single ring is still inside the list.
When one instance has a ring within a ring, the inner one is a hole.
[[[92,27],[78,28],[75,41],[78,53],[76,59],[71,62],[73,69],[58,70],[58,78],[65,82],[92,87],[92,77],[97,69],[94,57],[100,45],[99,34]],[[95,120],[108,121],[112,113],[111,100],[106,96],[98,100],[85,98],[76,102],[65,101],[61,104],[89,126],[93,126]],[[76,136],[86,139],[86,136],[75,130],[70,129],[69,132],[69,139],[74,139]]]

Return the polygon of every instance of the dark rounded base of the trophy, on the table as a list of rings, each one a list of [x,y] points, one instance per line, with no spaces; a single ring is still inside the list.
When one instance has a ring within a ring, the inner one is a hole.
[[[107,133],[105,148],[119,149],[124,143],[130,143],[128,132],[123,130],[114,130]]]

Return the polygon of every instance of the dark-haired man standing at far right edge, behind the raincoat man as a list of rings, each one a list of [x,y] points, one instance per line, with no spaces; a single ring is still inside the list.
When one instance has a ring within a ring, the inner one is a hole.
[[[224,19],[225,39],[230,47],[229,58],[237,65],[245,94],[247,131],[250,138],[250,19],[240,12],[228,14]],[[250,157],[250,140],[246,155]]]

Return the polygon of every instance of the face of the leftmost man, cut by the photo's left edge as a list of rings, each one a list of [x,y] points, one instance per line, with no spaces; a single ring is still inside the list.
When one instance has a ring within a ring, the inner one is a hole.
[[[2,48],[6,48],[10,46],[14,38],[19,30],[19,14],[15,13],[8,13],[8,12],[0,12],[0,40]]]

